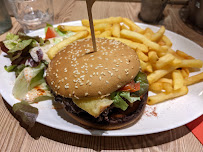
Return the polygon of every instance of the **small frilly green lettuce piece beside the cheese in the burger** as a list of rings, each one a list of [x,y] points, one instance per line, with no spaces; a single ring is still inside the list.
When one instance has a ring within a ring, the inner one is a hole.
[[[128,104],[121,98],[120,92],[113,92],[111,94],[111,99],[113,100],[113,104],[115,107],[120,108],[123,111],[128,108]]]

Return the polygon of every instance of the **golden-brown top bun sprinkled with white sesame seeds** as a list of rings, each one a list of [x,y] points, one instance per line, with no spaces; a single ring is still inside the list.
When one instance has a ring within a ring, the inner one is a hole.
[[[69,44],[51,60],[46,80],[55,94],[69,98],[105,96],[131,82],[139,72],[136,52],[127,45],[97,38]]]

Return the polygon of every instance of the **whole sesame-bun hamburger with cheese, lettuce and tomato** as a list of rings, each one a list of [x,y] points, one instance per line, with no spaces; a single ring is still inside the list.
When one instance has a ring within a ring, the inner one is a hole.
[[[56,101],[81,124],[96,129],[118,129],[141,117],[148,82],[136,52],[127,45],[97,38],[69,44],[50,62],[46,81]]]

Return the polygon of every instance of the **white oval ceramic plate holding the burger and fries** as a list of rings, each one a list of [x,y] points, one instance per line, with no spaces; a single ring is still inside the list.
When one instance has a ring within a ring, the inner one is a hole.
[[[63,24],[81,25],[81,22],[74,21]],[[158,27],[146,24],[138,23],[138,25],[142,28],[150,27],[154,31],[159,29]],[[174,50],[180,49],[197,59],[203,59],[203,48],[196,43],[170,31],[166,31],[165,34],[173,42]],[[44,29],[37,30],[29,35],[44,37]],[[12,106],[19,102],[12,95],[15,75],[14,73],[7,73],[4,70],[4,65],[10,65],[10,61],[3,57],[3,55],[5,54],[2,53],[0,55],[0,93]],[[201,68],[200,71],[191,73],[191,75],[200,72],[203,72],[203,68]],[[39,109],[37,122],[56,129],[96,136],[144,135],[170,130],[201,116],[203,114],[203,82],[189,86],[189,93],[183,97],[169,100],[155,106],[147,106],[144,115],[135,125],[113,131],[86,129],[84,126],[81,126],[79,123],[69,118],[63,109],[53,108],[52,101],[43,101],[38,104],[33,104],[33,106]]]

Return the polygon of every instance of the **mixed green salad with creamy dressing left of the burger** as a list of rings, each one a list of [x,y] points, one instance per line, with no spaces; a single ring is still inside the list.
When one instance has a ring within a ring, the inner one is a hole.
[[[50,31],[54,35],[51,35]],[[15,72],[16,75],[12,93],[21,101],[13,105],[13,110],[30,127],[34,125],[38,115],[38,109],[30,104],[53,97],[44,78],[50,62],[46,51],[73,34],[61,32],[47,24],[45,39],[24,33],[8,33],[6,39],[0,42],[1,50],[6,53],[5,57],[11,61],[11,65],[5,65],[4,69],[7,72]]]

